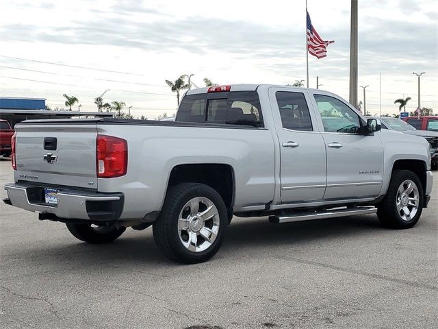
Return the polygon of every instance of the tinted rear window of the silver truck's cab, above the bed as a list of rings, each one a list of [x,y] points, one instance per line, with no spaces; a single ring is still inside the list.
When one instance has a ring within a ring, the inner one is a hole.
[[[186,95],[175,121],[264,127],[257,91]]]

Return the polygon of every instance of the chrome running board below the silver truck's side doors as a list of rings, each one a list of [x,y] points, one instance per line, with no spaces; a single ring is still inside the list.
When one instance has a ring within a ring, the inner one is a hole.
[[[313,219],[326,219],[335,217],[346,217],[354,215],[375,214],[377,208],[355,207],[355,208],[333,208],[321,212],[296,212],[290,215],[270,216],[271,223],[289,223],[291,221],[311,221]]]

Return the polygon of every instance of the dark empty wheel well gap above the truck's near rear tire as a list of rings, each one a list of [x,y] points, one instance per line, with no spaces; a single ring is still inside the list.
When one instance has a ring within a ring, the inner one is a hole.
[[[234,173],[228,164],[180,164],[170,172],[168,186],[185,182],[202,183],[216,190],[227,209],[234,202]]]

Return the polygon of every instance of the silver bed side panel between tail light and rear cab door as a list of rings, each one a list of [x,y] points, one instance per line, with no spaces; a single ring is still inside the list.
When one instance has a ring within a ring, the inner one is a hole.
[[[261,209],[274,195],[274,142],[266,129],[98,125],[99,134],[128,141],[128,171],[98,179],[100,192],[123,192],[122,219],[162,208],[172,169],[179,164],[218,163],[233,168],[235,211]]]

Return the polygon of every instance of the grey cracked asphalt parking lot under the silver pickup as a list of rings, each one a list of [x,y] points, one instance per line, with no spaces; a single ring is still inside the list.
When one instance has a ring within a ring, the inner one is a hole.
[[[12,182],[0,159],[0,196]],[[235,218],[207,263],[160,254],[151,228],[109,245],[0,204],[2,328],[438,328],[438,174],[411,230],[375,215]]]

